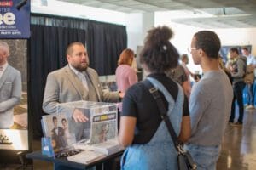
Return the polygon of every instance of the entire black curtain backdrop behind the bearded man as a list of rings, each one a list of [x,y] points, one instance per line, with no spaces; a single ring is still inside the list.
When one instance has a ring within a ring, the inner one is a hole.
[[[32,14],[29,87],[33,137],[42,137],[40,120],[44,86],[50,71],[67,65],[66,48],[70,42],[86,44],[90,67],[99,75],[114,74],[119,54],[127,47],[125,26],[47,14]]]

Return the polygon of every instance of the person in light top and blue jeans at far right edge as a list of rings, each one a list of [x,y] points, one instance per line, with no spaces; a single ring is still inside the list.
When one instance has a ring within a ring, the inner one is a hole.
[[[247,109],[254,109],[254,69],[256,67],[256,58],[250,54],[248,48],[241,48],[241,52],[247,57],[247,75],[245,83],[247,85]]]

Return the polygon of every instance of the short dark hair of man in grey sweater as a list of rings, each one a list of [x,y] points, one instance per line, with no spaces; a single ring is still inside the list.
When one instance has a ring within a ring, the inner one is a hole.
[[[194,35],[195,48],[202,49],[209,58],[218,59],[220,40],[213,31],[198,31]]]

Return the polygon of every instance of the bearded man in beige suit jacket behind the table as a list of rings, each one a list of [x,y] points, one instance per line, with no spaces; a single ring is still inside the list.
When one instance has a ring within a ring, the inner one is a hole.
[[[67,62],[65,67],[50,72],[44,89],[44,112],[55,113],[59,103],[78,100],[98,102],[119,102],[124,94],[119,92],[104,92],[98,74],[88,67],[87,50],[81,42],[73,42],[67,47]],[[85,82],[84,82],[84,77]],[[70,128],[75,129],[76,139],[83,136],[83,123],[88,118],[79,110],[63,111],[66,113]]]

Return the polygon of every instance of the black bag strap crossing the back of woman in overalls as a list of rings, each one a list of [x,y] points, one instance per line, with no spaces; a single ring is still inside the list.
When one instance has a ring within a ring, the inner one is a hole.
[[[153,95],[156,104],[158,106],[158,109],[160,111],[160,116],[161,119],[166,123],[166,127],[168,129],[168,132],[170,133],[171,137],[172,137],[172,142],[175,145],[175,148],[177,150],[177,152],[180,152],[180,142],[177,139],[177,135],[172,127],[172,123],[169,119],[169,116],[167,115],[167,110],[166,107],[163,103],[163,100],[161,99],[159,90],[157,88],[155,88],[153,86],[153,84],[151,82],[149,82],[147,79],[143,81],[143,84],[148,88],[150,94]]]

